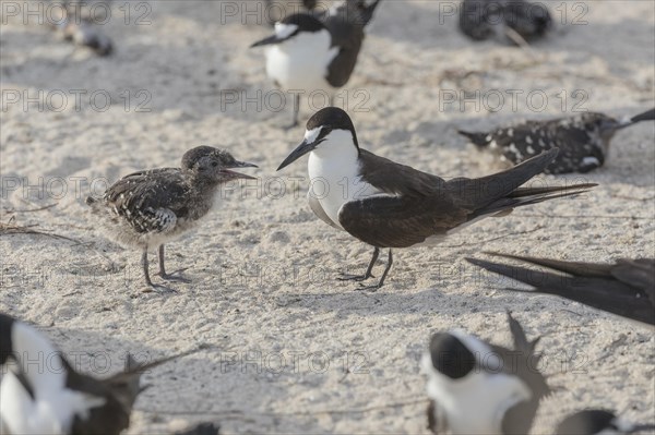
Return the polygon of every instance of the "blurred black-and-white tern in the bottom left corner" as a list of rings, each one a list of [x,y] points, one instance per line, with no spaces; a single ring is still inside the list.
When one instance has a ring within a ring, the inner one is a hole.
[[[143,390],[141,374],[194,351],[147,364],[128,354],[124,372],[97,379],[76,372],[36,328],[0,313],[0,433],[118,435]]]

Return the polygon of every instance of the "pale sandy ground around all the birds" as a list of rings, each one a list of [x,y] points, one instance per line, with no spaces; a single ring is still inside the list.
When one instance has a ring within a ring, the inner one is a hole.
[[[543,336],[541,370],[560,387],[535,434],[586,407],[655,421],[652,328],[505,292],[517,286],[464,261],[483,251],[654,256],[653,123],[617,134],[600,170],[539,178],[599,183],[593,192],[396,251],[386,285],[357,291],[335,277],[362,270],[370,249],[311,214],[305,159],[275,172],[303,125],[281,130],[289,105],[278,110],[263,52],[248,49],[271,32],[261,14],[246,14],[254,2],[116,2],[102,26],[116,46],[108,58],[27,17],[38,3],[14,2],[17,14],[7,3],[0,220],[50,235],[0,235],[0,311],[37,325],[98,376],[119,371],[127,352],[154,359],[207,347],[144,375],[152,386],[129,433],[200,421],[226,433],[427,433],[419,359],[430,334],[461,327],[509,345],[505,310],[528,337]],[[456,5],[381,3],[337,97],[364,148],[446,178],[483,176],[501,167],[456,129],[653,106],[653,1],[548,2],[557,28],[532,53],[472,44],[457,33]],[[320,107],[320,95],[303,101],[301,123]],[[140,253],[97,231],[84,198],[134,170],[178,166],[198,145],[255,162],[260,179],[222,190],[203,225],[167,246],[168,267],[189,267],[192,283],[144,293]]]

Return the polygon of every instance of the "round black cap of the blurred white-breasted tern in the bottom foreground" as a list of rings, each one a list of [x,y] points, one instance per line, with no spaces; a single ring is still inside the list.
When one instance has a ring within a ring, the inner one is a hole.
[[[438,333],[430,339],[430,358],[434,370],[452,379],[460,379],[476,365],[475,355],[455,336]]]

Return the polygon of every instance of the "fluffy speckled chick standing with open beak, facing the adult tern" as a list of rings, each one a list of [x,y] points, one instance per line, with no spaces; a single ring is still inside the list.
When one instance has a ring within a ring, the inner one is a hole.
[[[255,167],[241,162],[227,152],[199,146],[184,154],[181,168],[160,168],[134,172],[118,180],[102,200],[86,203],[100,217],[102,228],[118,243],[144,251],[159,246],[159,274],[164,269],[164,244],[189,231],[214,205],[218,186],[229,180],[252,177],[228,168]]]

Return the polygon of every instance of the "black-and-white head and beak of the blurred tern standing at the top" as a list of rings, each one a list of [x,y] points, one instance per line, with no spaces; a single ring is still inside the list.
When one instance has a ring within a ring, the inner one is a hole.
[[[325,46],[329,48],[332,43],[332,36],[323,23],[318,19],[306,14],[297,13],[289,15],[275,23],[275,33],[264,39],[258,40],[250,48],[261,46],[285,46],[289,44],[302,44],[307,49]]]

